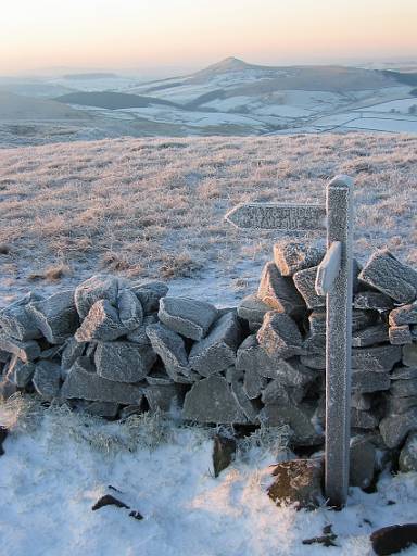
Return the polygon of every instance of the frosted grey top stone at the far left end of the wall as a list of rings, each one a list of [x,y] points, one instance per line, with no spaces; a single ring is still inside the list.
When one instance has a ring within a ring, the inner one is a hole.
[[[0,311],[0,327],[3,331],[8,336],[23,342],[41,338],[42,333],[34,323],[31,315],[26,311],[26,306],[29,303],[40,301],[41,299],[40,295],[28,293]]]

